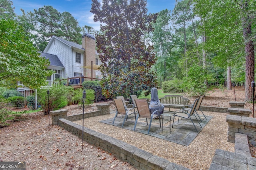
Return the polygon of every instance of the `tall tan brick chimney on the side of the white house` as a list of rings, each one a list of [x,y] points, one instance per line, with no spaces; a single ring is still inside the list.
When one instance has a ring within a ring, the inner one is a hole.
[[[89,66],[91,68],[92,63],[95,64],[96,58],[96,42],[95,37],[91,34],[84,33],[82,35],[82,48],[85,49],[84,51],[84,66]],[[95,70],[84,68],[84,76],[85,77],[92,77],[95,78]]]

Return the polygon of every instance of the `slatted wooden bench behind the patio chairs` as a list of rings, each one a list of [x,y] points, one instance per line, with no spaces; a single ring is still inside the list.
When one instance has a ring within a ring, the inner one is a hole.
[[[165,95],[161,99],[159,99],[162,105],[164,107],[169,107],[170,108],[182,108],[186,107],[188,105],[189,99],[184,98],[182,95]]]

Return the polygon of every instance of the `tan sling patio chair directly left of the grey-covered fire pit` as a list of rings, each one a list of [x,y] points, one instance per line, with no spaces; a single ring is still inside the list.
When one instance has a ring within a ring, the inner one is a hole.
[[[146,118],[147,125],[148,125],[148,119],[150,119],[150,123],[149,123],[149,127],[148,127],[148,134],[149,134],[149,130],[151,127],[152,119],[154,119],[154,118],[157,118],[157,117],[159,118],[159,124],[160,124],[160,128],[161,128],[161,120],[160,120],[159,111],[158,110],[154,111],[154,113],[158,113],[158,114],[150,113],[150,110],[148,107],[148,102],[146,99],[135,99],[134,101],[135,101],[137,109],[138,109],[138,115],[137,115],[133,130],[135,130],[137,121],[139,118]]]

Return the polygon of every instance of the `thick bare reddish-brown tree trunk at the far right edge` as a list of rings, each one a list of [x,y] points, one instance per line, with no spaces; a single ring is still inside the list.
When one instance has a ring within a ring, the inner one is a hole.
[[[252,34],[250,17],[246,12],[248,8],[247,0],[241,0],[242,8],[242,27],[245,42],[245,101],[252,101],[252,87],[251,82],[254,80],[254,44],[249,39]]]

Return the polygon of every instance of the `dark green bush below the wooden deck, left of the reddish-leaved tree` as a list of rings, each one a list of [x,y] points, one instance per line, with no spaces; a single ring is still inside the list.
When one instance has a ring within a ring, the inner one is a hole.
[[[84,89],[92,89],[94,91],[97,90],[97,93],[95,93],[94,102],[106,100],[106,97],[104,95],[102,95],[102,88],[100,86],[100,81],[84,81],[82,83],[82,86]],[[87,93],[87,91],[86,91],[86,93]],[[97,99],[97,101],[96,101],[96,99]]]

